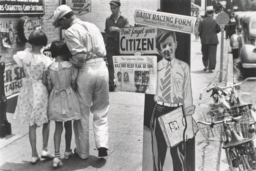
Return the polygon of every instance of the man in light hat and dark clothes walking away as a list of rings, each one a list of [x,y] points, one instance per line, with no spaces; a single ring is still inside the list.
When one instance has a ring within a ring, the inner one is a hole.
[[[198,31],[201,39],[202,62],[204,71],[213,72],[216,66],[217,45],[219,44],[217,33],[221,31],[213,18],[213,6],[206,7],[207,17],[200,22]]]

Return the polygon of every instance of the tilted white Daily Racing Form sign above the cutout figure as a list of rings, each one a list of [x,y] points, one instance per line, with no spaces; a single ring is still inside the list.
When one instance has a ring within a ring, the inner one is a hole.
[[[135,23],[194,34],[196,18],[147,9],[135,9]]]

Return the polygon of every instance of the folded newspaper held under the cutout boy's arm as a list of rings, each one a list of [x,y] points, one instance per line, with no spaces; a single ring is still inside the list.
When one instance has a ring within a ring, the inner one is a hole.
[[[182,106],[158,117],[168,147],[173,147],[183,142],[183,132],[185,129],[185,121],[183,118]]]

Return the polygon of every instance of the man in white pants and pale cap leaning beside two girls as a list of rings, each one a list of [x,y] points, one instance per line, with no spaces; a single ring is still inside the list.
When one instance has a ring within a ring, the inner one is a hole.
[[[77,153],[89,158],[89,116],[93,114],[93,130],[99,157],[107,156],[109,148],[108,119],[109,75],[103,57],[106,55],[103,37],[98,27],[76,18],[67,5],[54,13],[53,26],[65,29],[64,39],[72,53],[71,63],[78,68],[77,96],[81,120],[73,123]]]

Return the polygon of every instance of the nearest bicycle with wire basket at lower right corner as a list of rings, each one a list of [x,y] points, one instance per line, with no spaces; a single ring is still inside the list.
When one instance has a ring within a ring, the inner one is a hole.
[[[232,115],[220,117],[219,111],[202,112],[197,121],[201,134],[209,140],[220,137],[230,171],[256,170],[255,113],[249,105],[232,107]]]

